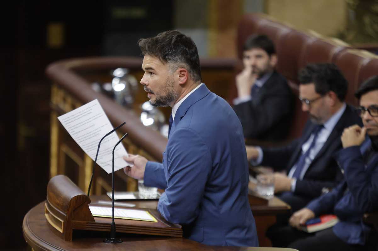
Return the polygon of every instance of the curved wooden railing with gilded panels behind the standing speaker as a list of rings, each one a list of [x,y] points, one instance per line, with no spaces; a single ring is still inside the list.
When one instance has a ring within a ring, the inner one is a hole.
[[[143,126],[139,119],[138,107],[147,101],[143,86],[135,98],[134,109],[120,106],[102,93],[91,89],[93,81],[111,80],[110,70],[118,67],[127,68],[139,81],[143,75],[142,59],[131,57],[78,58],[57,61],[46,69],[47,76],[53,82],[51,87],[51,146],[50,177],[65,174],[83,191],[90,182],[93,161],[71,139],[60,125],[57,117],[67,113],[93,99],[98,99],[113,126],[126,122],[119,133],[129,133],[123,144],[128,153],[145,156],[152,161],[161,161],[167,139],[160,133]],[[228,98],[229,85],[234,79],[234,60],[201,60],[202,77],[210,90]],[[170,109],[163,109],[169,116]],[[104,194],[111,190],[110,176],[97,167],[93,179],[92,194]],[[126,187],[127,184],[127,187]],[[116,171],[115,190],[135,191],[137,182],[128,178],[122,170]]]

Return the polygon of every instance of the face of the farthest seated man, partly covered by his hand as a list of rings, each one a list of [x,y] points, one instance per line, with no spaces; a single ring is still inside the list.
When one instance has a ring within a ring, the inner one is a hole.
[[[272,57],[269,57],[263,49],[253,48],[243,52],[243,64],[245,68],[251,68],[252,74],[260,78],[266,72],[271,71],[276,64]]]

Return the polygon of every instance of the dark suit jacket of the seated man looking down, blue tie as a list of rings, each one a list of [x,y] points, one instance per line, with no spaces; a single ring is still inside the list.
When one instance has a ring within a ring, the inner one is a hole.
[[[296,181],[294,193],[282,194],[281,198],[291,205],[293,211],[304,207],[311,199],[319,197],[322,188],[335,187],[343,180],[343,175],[332,155],[342,148],[340,137],[344,128],[354,124],[362,126],[361,118],[357,116],[353,107],[347,106],[327,141],[311,162],[303,179]],[[289,145],[279,148],[263,148],[261,165],[273,167],[275,170],[286,169],[288,173],[301,155],[302,145],[310,137],[314,126],[316,125],[308,120],[302,136]]]

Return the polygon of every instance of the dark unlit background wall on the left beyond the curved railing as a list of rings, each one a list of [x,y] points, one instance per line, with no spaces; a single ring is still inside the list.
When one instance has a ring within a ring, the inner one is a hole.
[[[46,198],[51,84],[46,66],[73,57],[138,56],[138,38],[172,28],[172,5],[41,0],[2,6],[0,250],[26,249],[23,216]]]

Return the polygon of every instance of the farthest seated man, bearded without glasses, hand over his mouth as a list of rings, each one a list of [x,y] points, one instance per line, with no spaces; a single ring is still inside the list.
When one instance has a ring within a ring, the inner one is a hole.
[[[265,35],[249,37],[243,48],[243,71],[236,77],[234,110],[244,137],[265,141],[285,139],[293,110],[286,79],[274,70],[277,55]]]

